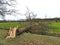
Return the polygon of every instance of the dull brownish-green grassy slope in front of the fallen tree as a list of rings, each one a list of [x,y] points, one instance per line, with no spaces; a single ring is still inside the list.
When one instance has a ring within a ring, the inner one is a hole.
[[[15,39],[5,39],[6,34],[6,30],[0,30],[0,45],[60,45],[60,37],[23,33]]]

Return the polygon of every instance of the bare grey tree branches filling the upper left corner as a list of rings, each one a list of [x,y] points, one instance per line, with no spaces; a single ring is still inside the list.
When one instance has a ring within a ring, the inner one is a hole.
[[[0,15],[5,20],[5,15],[13,15],[16,10],[14,9],[16,0],[0,0]]]

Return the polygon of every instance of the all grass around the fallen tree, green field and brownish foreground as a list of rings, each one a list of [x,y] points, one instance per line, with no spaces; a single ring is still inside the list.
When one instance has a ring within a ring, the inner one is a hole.
[[[28,24],[28,22],[6,22],[0,23],[0,28],[15,27],[17,25],[25,27]],[[33,24],[40,25],[39,23]],[[48,32],[60,34],[60,22],[51,22],[49,25],[54,28],[48,29]],[[0,30],[0,45],[60,45],[60,37],[23,33],[14,39],[6,39],[7,32],[7,30]]]

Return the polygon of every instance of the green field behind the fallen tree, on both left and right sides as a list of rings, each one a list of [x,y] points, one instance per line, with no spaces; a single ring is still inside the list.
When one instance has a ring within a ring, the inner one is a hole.
[[[33,25],[41,26],[40,23],[33,22]],[[48,32],[60,33],[60,22],[51,22],[50,24],[49,24],[49,22],[45,22],[45,23],[46,23],[46,25],[53,27],[53,28],[49,28],[47,30]],[[19,26],[21,28],[21,27],[25,27],[27,25],[29,25],[29,22],[3,22],[3,23],[0,23],[0,28],[9,29],[9,27],[15,27],[15,26]],[[46,27],[46,28],[48,28],[48,27]]]

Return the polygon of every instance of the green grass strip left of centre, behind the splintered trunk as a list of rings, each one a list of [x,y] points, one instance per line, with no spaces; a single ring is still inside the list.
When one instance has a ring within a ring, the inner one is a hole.
[[[0,23],[0,28],[10,28],[10,27],[25,27],[28,25],[28,22],[3,22]]]

